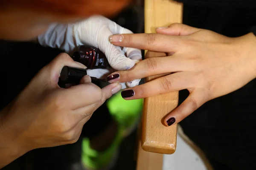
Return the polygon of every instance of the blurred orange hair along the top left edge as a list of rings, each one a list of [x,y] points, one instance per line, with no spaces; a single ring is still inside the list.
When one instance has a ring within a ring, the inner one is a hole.
[[[131,0],[1,0],[0,8],[22,8],[38,12],[84,17],[92,14],[115,14],[130,1]]]

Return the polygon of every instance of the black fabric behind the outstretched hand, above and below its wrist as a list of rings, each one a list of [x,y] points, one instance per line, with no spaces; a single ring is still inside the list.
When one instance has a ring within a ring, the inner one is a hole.
[[[256,8],[201,8],[185,4],[183,23],[238,37],[256,25]],[[180,91],[179,103],[186,96],[187,91]],[[184,133],[206,153],[216,170],[255,170],[255,102],[254,79],[233,93],[207,102],[180,125]]]

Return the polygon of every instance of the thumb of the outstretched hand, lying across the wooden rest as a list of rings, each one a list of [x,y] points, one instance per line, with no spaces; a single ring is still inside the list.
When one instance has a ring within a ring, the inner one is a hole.
[[[168,27],[158,27],[156,32],[159,34],[168,34],[168,35],[189,35],[197,31],[200,31],[200,28],[191,27],[181,23],[174,23]]]

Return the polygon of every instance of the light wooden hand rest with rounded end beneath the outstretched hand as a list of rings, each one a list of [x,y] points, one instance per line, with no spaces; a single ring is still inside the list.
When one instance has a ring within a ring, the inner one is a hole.
[[[172,0],[145,0],[145,32],[155,28],[182,22],[183,6]],[[148,51],[145,58],[164,54]],[[163,75],[162,75],[163,76]],[[161,76],[147,77],[151,81]],[[172,154],[176,150],[177,125],[166,127],[163,118],[178,104],[178,92],[144,99],[142,120],[142,148],[148,152]]]

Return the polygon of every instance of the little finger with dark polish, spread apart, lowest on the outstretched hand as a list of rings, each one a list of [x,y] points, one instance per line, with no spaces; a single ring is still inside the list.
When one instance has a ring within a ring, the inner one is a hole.
[[[207,102],[207,93],[204,90],[198,89],[193,91],[178,108],[166,116],[164,119],[166,126],[179,123],[197,110],[205,102]]]

